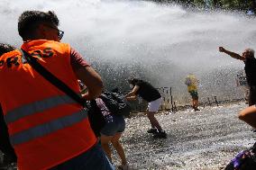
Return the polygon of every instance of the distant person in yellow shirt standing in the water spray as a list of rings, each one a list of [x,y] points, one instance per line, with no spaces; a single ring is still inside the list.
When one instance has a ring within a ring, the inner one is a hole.
[[[195,112],[200,111],[198,109],[198,92],[197,92],[198,80],[196,76],[189,74],[185,79],[185,85],[187,85],[187,91],[192,97],[192,107]]]

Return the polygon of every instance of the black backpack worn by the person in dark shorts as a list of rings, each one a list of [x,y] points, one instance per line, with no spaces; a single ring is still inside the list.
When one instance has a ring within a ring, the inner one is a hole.
[[[101,94],[100,98],[113,114],[119,114],[127,117],[132,111],[130,104],[127,102],[123,94],[105,92]]]

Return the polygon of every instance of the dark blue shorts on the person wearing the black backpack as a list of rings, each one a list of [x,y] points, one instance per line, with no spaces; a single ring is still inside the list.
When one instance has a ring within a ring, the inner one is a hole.
[[[105,122],[105,126],[100,131],[105,136],[114,136],[115,133],[122,133],[125,129],[123,115],[112,115],[113,121]]]

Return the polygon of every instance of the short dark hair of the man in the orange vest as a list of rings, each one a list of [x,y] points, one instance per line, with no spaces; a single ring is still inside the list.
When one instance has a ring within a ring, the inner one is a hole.
[[[38,25],[47,22],[59,26],[59,19],[54,12],[25,11],[18,21],[18,31],[23,40],[33,40],[36,38],[35,31]]]

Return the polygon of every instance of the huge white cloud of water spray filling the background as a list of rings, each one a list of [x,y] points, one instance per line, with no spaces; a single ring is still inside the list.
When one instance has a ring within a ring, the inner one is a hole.
[[[176,96],[187,94],[188,73],[201,81],[201,96],[241,96],[233,72],[243,64],[218,47],[242,53],[256,44],[254,18],[127,0],[1,0],[1,41],[22,44],[17,19],[24,10],[56,12],[62,41],[78,49],[106,85],[126,85],[127,76],[138,75],[155,86],[172,86]]]

